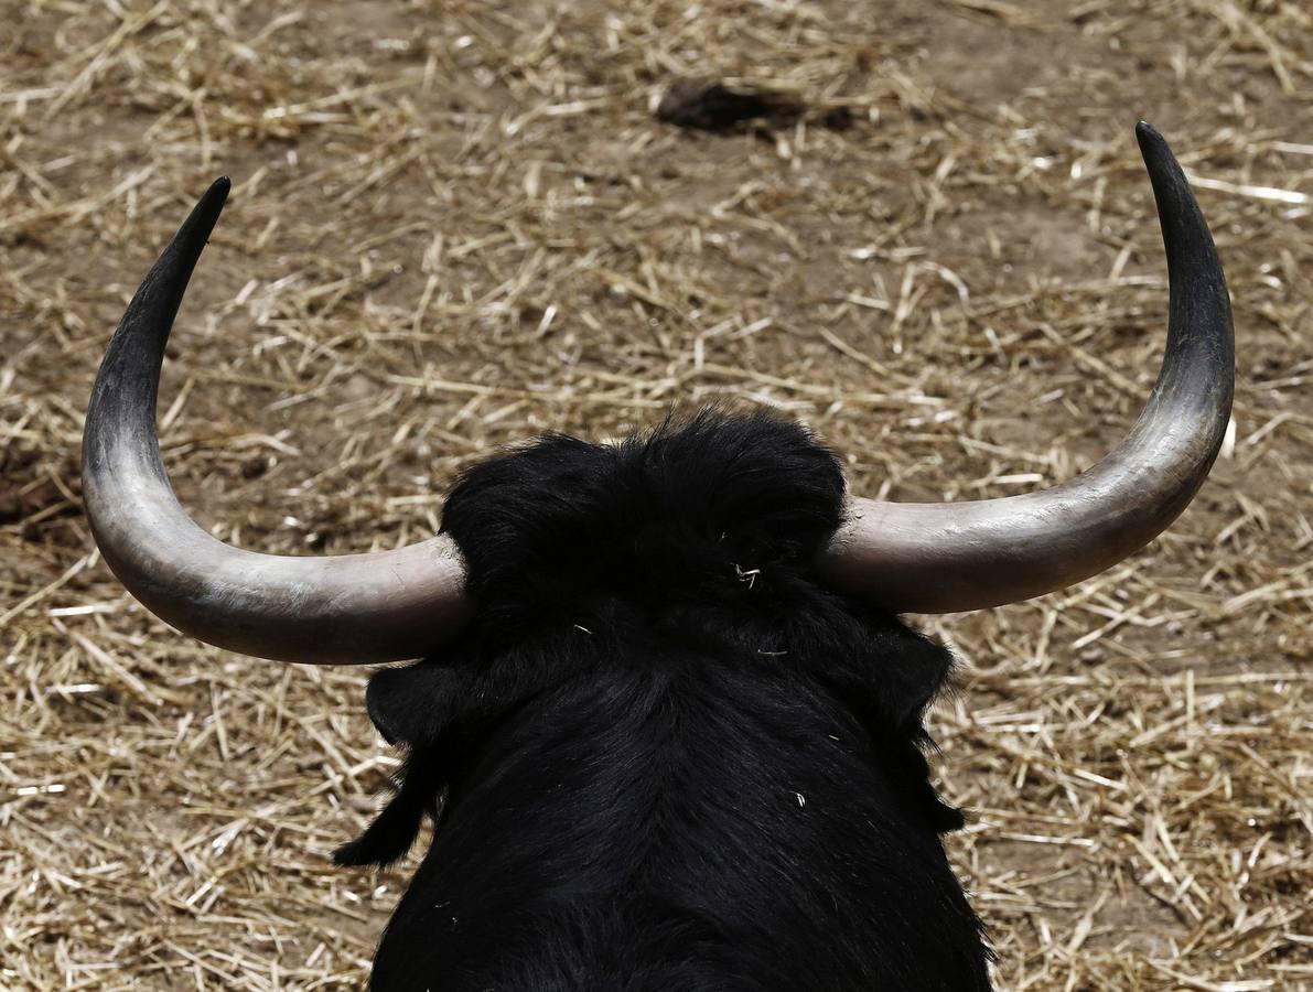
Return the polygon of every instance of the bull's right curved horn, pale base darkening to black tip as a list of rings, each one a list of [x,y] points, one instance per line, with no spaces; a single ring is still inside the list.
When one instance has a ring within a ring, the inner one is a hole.
[[[1098,575],[1186,508],[1217,455],[1234,391],[1217,251],[1167,142],[1136,129],[1167,252],[1167,353],[1149,403],[1098,465],[1043,492],[974,503],[850,499],[822,567],[844,592],[906,613],[999,606]]]

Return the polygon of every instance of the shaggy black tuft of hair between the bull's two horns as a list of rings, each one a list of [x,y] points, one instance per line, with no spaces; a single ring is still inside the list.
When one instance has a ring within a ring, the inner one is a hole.
[[[478,465],[444,530],[475,602],[507,622],[616,594],[767,605],[811,576],[843,495],[839,461],[801,425],[704,409],[618,445],[549,434]]]

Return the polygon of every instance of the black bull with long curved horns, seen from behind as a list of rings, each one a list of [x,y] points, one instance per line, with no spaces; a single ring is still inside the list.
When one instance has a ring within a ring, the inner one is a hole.
[[[941,837],[926,707],[949,652],[901,613],[1061,589],[1190,503],[1233,395],[1208,226],[1162,136],[1166,356],[1138,421],[1049,489],[850,496],[802,426],[704,411],[613,445],[559,434],[466,471],[437,537],[365,555],[230,547],[156,437],[165,341],[227,196],[133,298],[87,415],[84,500],[125,587],[179,630],[280,661],[389,663],[369,715],[398,789],[341,865],[431,848],[374,959],[391,989],[987,989]]]

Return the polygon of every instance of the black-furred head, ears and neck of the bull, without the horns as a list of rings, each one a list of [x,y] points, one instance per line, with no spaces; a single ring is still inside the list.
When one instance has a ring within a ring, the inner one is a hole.
[[[370,681],[408,758],[339,852],[437,820],[376,991],[989,988],[922,753],[951,657],[818,581],[842,512],[834,455],[764,415],[460,480],[477,614]]]

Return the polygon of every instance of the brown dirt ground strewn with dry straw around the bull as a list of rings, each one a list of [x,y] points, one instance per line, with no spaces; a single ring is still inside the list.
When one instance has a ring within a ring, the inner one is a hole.
[[[721,133],[676,80],[797,102]],[[1313,988],[1313,14],[1299,0],[0,0],[0,988],[360,988],[414,869],[335,869],[397,756],[362,669],[131,601],[80,516],[123,304],[234,194],[160,411],[183,501],[314,552],[672,404],[807,420],[852,486],[1088,466],[1163,344],[1133,125],[1234,297],[1234,434],[1109,573],[920,618],[948,838],[1007,989]]]

